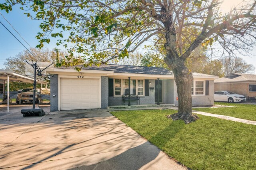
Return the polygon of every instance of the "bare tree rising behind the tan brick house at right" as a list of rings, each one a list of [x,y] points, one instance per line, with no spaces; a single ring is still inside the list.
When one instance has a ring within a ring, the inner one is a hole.
[[[242,57],[225,57],[222,59],[224,74],[231,73],[253,73],[255,67],[246,63]]]

